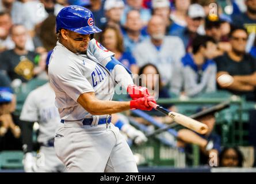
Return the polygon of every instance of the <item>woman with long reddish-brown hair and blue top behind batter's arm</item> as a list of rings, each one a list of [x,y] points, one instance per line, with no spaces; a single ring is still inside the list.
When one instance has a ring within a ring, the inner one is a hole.
[[[123,37],[120,29],[108,26],[101,33],[100,42],[109,51],[114,52],[114,57],[124,64],[133,74],[137,74],[139,67],[131,52],[124,51]]]

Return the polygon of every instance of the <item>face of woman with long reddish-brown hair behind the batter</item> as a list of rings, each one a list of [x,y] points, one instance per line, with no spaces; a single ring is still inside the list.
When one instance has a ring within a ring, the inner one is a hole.
[[[115,51],[117,47],[116,32],[113,29],[107,29],[103,35],[102,43],[109,51]]]

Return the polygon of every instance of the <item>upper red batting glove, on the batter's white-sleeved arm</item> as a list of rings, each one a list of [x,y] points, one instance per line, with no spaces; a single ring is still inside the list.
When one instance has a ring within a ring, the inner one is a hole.
[[[128,85],[127,92],[132,99],[137,99],[145,96],[149,96],[147,87]]]

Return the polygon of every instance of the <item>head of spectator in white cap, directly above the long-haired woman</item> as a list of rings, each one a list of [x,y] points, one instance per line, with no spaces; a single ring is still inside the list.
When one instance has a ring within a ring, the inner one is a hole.
[[[120,26],[121,16],[124,11],[123,0],[106,0],[104,3],[105,15],[108,25]]]

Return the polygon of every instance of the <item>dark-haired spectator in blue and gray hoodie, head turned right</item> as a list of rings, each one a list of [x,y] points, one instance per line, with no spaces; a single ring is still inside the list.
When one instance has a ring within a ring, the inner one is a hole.
[[[209,36],[197,36],[192,48],[192,53],[186,53],[181,59],[181,75],[174,76],[183,78],[184,95],[189,97],[216,90],[216,64],[212,60],[216,56],[216,41]]]

